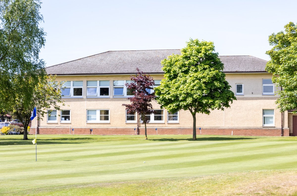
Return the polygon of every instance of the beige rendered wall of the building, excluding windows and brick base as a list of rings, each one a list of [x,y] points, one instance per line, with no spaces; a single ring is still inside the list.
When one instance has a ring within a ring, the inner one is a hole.
[[[160,80],[163,75],[151,75],[154,79]],[[271,78],[271,74],[226,74],[226,80],[232,86],[235,93],[235,84],[244,84],[244,96],[236,96],[231,108],[225,111],[214,110],[210,115],[197,114],[197,127],[262,127],[263,109],[274,109],[274,126],[281,126],[279,110],[276,109],[275,100],[277,95],[262,95],[262,78]],[[113,97],[113,80],[130,80],[129,75],[90,75],[90,76],[57,76],[57,81],[83,81],[83,98],[67,98],[62,110],[71,110],[71,123],[61,123],[58,116],[57,123],[48,123],[45,117],[40,121],[41,127],[65,126],[65,127],[136,127],[136,123],[125,122],[125,107],[122,104],[129,104],[126,98]],[[87,98],[86,81],[109,80],[110,98]],[[69,106],[68,106],[69,105]],[[153,100],[154,109],[160,109]],[[109,109],[109,123],[87,123],[86,111],[88,109]],[[60,112],[58,111],[58,114]],[[167,123],[167,111],[164,110],[164,123],[149,123],[149,127],[192,127],[192,115],[189,111],[179,112],[178,123]],[[34,126],[34,122],[32,124]],[[141,123],[140,123],[141,126]]]

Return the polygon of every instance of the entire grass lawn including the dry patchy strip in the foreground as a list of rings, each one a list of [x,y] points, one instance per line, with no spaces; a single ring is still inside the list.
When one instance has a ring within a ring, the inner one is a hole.
[[[297,195],[297,137],[0,136],[0,195]],[[144,163],[145,162],[145,163]]]

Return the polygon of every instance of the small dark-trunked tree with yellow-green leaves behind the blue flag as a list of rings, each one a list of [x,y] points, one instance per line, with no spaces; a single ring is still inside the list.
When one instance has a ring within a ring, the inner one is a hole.
[[[30,75],[15,75],[13,83],[19,84],[18,91],[15,91],[11,110],[14,115],[23,123],[24,140],[27,140],[27,128],[34,107],[39,114],[38,119],[42,119],[47,114],[46,108],[60,110],[60,105],[64,105],[61,100],[61,82],[55,82],[55,77],[41,75],[33,78]]]

